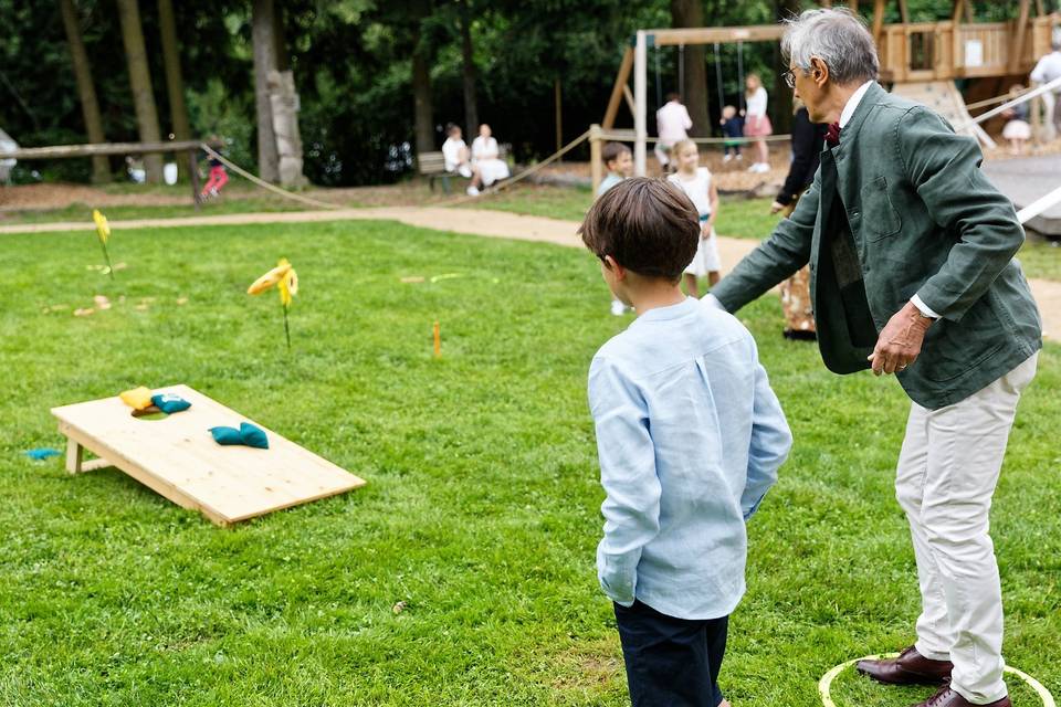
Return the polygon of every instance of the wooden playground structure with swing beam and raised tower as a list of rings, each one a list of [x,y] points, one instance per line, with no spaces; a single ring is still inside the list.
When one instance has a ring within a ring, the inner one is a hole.
[[[1046,13],[1043,0],[1018,0],[1018,18],[1008,22],[975,22],[970,0],[954,0],[952,17],[941,22],[910,22],[906,0],[896,0],[902,22],[885,24],[889,0],[873,1],[871,32],[881,60],[882,83],[903,84],[945,82],[956,78],[984,78],[1026,75],[1036,61],[1050,51],[1050,33],[1061,24],[1061,13]],[[822,0],[822,7],[831,7]],[[859,11],[859,0],[848,8]],[[1034,13],[1034,17],[1032,15]],[[634,172],[645,173],[648,141],[648,48],[683,46],[735,42],[779,41],[782,24],[754,27],[639,30],[633,45],[627,48],[619,75],[600,126],[590,128],[593,184],[599,183],[599,146],[602,140],[634,143]],[[633,93],[628,82],[633,73]],[[904,92],[911,95],[908,92]],[[957,94],[954,88],[953,93]],[[912,96],[913,97],[913,96]],[[632,135],[614,130],[619,106],[626,103],[634,117]],[[964,102],[962,109],[965,109]]]

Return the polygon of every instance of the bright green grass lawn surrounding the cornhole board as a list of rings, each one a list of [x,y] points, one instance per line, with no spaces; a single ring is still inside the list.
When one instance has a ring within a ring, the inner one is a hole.
[[[627,704],[585,387],[629,318],[588,253],[377,222],[119,230],[112,252],[113,283],[86,270],[91,235],[0,238],[0,704]],[[291,356],[273,293],[244,294],[281,255],[302,278]],[[461,276],[400,283],[438,274]],[[97,294],[114,307],[72,315]],[[734,705],[807,707],[833,665],[912,639],[892,490],[908,402],[782,340],[775,298],[742,316],[796,446],[750,527],[723,685]],[[1007,658],[1054,690],[1059,363],[1049,347],[992,514]],[[61,445],[51,407],[176,382],[368,485],[220,529],[115,469],[23,455]],[[848,673],[833,697],[928,693]]]

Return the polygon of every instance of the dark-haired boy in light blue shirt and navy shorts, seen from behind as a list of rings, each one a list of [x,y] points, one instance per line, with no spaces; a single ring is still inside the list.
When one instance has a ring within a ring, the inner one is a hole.
[[[597,200],[579,233],[638,318],[589,370],[605,537],[634,707],[728,705],[717,677],[728,615],[745,590],[745,523],[791,446],[755,341],[731,315],[686,298],[692,202],[633,178]]]

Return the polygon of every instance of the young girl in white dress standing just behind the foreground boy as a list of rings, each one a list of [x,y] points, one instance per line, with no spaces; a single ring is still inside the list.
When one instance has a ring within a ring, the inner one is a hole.
[[[715,218],[718,215],[718,190],[711,178],[711,171],[700,166],[700,150],[692,140],[682,140],[674,146],[674,161],[677,171],[668,177],[689,197],[700,212],[700,244],[696,255],[685,268],[685,292],[693,297],[700,296],[697,277],[707,277],[714,286],[722,277],[722,261],[715,242]]]

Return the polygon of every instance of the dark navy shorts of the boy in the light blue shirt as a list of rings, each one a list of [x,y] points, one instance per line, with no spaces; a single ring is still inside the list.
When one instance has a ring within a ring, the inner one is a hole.
[[[718,707],[728,616],[675,619],[640,601],[614,606],[633,707]]]

